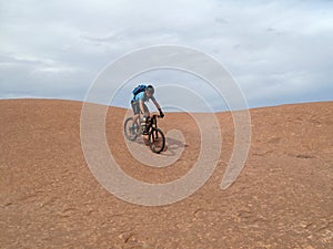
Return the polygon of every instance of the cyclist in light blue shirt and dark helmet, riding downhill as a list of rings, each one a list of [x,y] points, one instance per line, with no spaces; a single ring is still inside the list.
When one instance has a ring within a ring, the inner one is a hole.
[[[138,120],[140,117],[140,113],[143,114],[143,121],[145,122],[145,118],[150,115],[149,114],[149,110],[147,107],[147,105],[144,104],[144,102],[148,102],[149,100],[152,100],[152,102],[154,103],[154,105],[157,106],[157,108],[160,112],[160,116],[164,117],[164,113],[162,112],[162,108],[159,104],[159,102],[155,100],[155,97],[153,96],[154,94],[154,87],[152,85],[140,85],[142,86],[142,90],[139,90],[139,93],[134,93],[133,98],[131,100],[131,106],[133,110],[133,124],[138,124]],[[138,86],[139,87],[139,86]],[[147,131],[143,132],[143,134],[145,134]]]

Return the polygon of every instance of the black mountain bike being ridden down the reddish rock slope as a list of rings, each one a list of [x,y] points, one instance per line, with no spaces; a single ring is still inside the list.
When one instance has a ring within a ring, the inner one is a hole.
[[[158,127],[160,115],[149,116],[143,125],[134,123],[133,117],[128,117],[124,122],[124,135],[129,141],[135,141],[140,135],[148,135],[148,144],[153,153],[161,153],[165,146],[165,136]],[[139,122],[140,123],[140,122]]]

